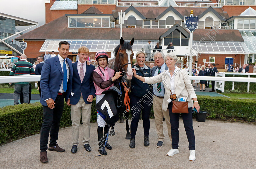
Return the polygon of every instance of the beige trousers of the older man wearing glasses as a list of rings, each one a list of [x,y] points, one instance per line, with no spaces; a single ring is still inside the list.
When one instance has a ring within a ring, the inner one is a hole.
[[[170,123],[170,116],[169,111],[164,111],[162,109],[163,104],[163,98],[158,98],[156,95],[153,95],[153,110],[154,110],[154,116],[155,116],[155,128],[156,133],[158,136],[158,141],[164,142],[165,136],[164,136],[164,125],[163,125],[163,118],[165,117],[165,122],[168,130],[168,135],[170,140],[172,141],[171,136],[171,123]]]

